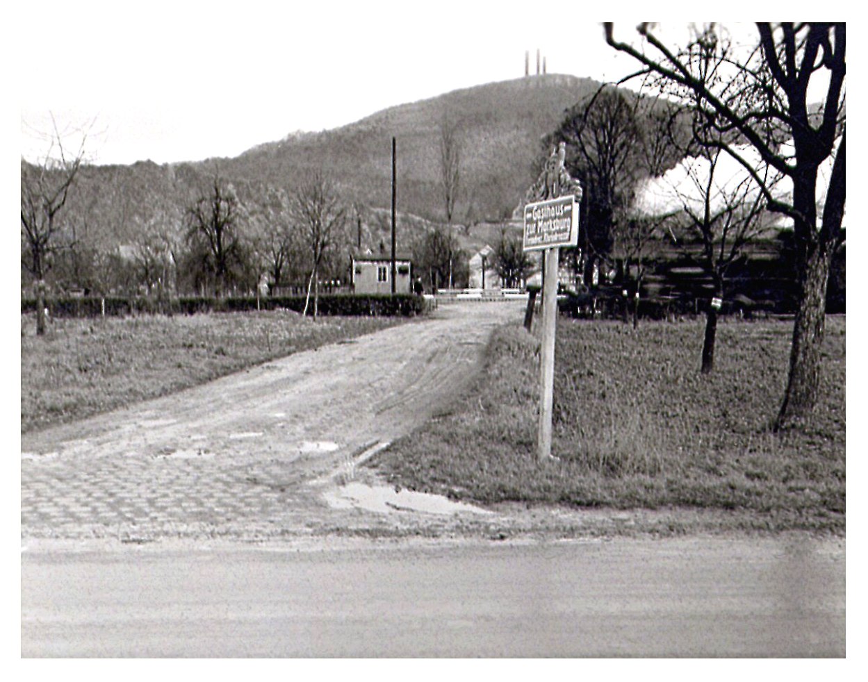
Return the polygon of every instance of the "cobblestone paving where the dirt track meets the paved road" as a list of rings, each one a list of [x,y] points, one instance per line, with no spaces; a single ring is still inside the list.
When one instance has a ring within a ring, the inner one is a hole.
[[[299,488],[297,475],[292,480],[290,462],[226,459],[101,456],[87,467],[74,458],[24,459],[21,523],[35,535],[68,534],[74,527],[110,535],[197,523],[282,525],[301,497],[311,496]]]

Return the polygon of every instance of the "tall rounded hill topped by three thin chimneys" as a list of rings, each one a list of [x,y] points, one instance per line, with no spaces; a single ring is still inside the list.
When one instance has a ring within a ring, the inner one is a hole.
[[[325,168],[356,200],[387,206],[394,136],[399,200],[411,213],[444,220],[438,145],[439,125],[447,116],[464,139],[464,196],[457,200],[457,220],[506,218],[534,180],[542,136],[599,85],[567,74],[484,83],[384,108],[339,128],[290,134],[220,163],[227,174],[277,186]]]

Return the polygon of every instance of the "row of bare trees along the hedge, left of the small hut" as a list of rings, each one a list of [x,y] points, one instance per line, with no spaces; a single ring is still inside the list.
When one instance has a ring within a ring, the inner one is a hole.
[[[93,292],[252,292],[306,282],[316,314],[319,280],[345,280],[352,250],[349,208],[324,174],[289,191],[233,187],[214,174],[186,206],[156,207],[134,243],[100,248],[82,224],[64,220],[84,162],[59,135],[38,163],[21,164],[23,273],[34,283],[37,333],[45,330],[49,281]],[[253,196],[255,194],[255,196]]]

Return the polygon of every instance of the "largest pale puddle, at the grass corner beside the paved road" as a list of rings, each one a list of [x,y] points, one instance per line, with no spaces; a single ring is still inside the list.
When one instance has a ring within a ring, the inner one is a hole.
[[[359,508],[367,511],[390,513],[396,511],[417,511],[425,514],[492,514],[487,509],[474,507],[464,502],[452,502],[443,495],[418,493],[414,490],[399,490],[388,486],[369,486],[365,483],[350,482],[339,489],[330,490],[323,495],[325,502],[335,509]]]

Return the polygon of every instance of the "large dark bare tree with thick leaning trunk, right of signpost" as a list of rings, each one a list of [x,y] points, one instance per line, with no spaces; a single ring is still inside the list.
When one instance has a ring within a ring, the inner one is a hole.
[[[792,331],[786,392],[775,420],[784,428],[810,415],[819,390],[820,349],[825,331],[825,292],[832,257],[843,241],[845,208],[845,23],[758,23],[753,49],[740,54],[720,27],[696,31],[687,47],[670,48],[653,24],[638,27],[645,48],[606,41],[634,56],[641,74],[660,77],[667,96],[694,106],[714,131],[710,141],[753,174],[766,203],[793,222],[797,246],[799,304]],[[702,69],[714,59],[726,69]],[[812,109],[808,93],[825,93]],[[747,141],[762,161],[792,181],[792,196],[776,196],[737,149]],[[825,204],[820,167],[831,163]]]

